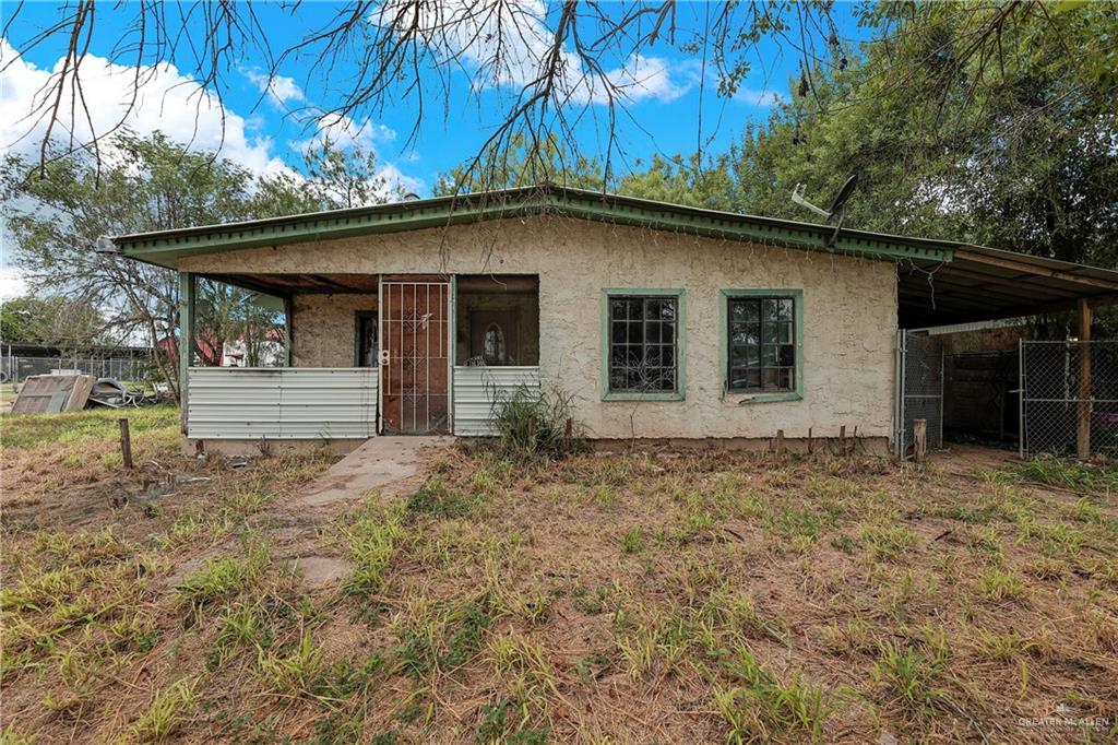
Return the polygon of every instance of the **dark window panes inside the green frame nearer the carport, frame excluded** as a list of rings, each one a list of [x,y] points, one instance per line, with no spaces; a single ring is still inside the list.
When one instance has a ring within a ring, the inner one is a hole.
[[[784,393],[796,389],[796,303],[792,296],[727,298],[727,387]]]

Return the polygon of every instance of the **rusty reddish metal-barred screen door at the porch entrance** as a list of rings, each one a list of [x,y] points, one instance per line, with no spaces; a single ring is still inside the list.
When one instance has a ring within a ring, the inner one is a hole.
[[[449,298],[443,280],[380,283],[383,434],[449,431]]]

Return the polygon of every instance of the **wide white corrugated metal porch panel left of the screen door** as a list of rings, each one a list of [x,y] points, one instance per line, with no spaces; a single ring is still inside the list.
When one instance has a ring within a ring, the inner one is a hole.
[[[363,438],[377,434],[376,368],[192,367],[187,436]]]

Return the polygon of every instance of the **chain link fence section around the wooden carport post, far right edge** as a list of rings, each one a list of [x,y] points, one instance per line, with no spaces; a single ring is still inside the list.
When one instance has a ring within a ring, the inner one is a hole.
[[[1118,341],[1021,342],[1021,456],[1118,456]]]

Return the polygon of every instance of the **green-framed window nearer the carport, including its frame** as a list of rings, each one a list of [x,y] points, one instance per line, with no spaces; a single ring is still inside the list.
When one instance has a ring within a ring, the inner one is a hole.
[[[802,290],[723,290],[722,380],[742,402],[803,397]]]

